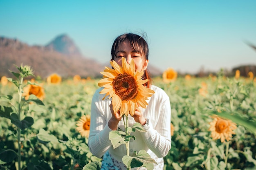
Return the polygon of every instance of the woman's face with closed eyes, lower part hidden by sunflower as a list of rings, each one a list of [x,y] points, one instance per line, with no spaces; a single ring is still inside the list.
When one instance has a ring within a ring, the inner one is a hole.
[[[117,49],[115,54],[114,60],[120,66],[122,65],[122,57],[125,57],[128,64],[132,59],[134,60],[137,71],[145,71],[148,67],[148,60],[145,61],[144,56],[141,56],[139,51],[134,51],[128,40],[121,44],[120,49]]]

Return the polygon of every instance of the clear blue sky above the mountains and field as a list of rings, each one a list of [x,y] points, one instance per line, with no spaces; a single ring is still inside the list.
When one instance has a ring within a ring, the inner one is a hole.
[[[67,34],[85,57],[109,64],[115,38],[146,33],[164,71],[256,64],[256,0],[0,0],[0,36],[45,45]]]

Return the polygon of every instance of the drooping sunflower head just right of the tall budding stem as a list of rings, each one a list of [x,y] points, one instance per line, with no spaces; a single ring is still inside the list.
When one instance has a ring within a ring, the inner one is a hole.
[[[43,101],[45,98],[45,91],[42,86],[28,84],[23,88],[23,94],[22,96],[25,97],[25,99],[29,99],[29,95],[35,95],[38,99]]]

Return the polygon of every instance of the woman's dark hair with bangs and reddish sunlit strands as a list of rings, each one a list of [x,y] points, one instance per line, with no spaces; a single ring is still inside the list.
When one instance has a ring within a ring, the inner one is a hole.
[[[130,42],[130,46],[133,50],[139,51],[140,55],[144,56],[144,61],[148,60],[148,43],[144,38],[134,33],[125,33],[125,34],[119,35],[115,39],[111,48],[112,60],[115,59],[116,50],[120,48],[121,44],[125,40],[128,40],[128,42]],[[146,82],[144,86],[150,88],[152,79],[150,77],[148,69],[144,71],[144,76],[142,78],[148,79],[148,82]]]

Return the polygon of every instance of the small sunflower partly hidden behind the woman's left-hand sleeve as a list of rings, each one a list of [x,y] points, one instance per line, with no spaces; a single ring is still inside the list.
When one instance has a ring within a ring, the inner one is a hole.
[[[89,137],[90,133],[90,115],[83,115],[80,117],[76,124],[76,130],[81,134],[82,137]]]

